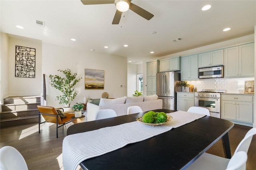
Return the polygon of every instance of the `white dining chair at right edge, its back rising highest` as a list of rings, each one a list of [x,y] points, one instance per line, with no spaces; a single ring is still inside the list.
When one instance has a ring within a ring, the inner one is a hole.
[[[246,135],[244,136],[244,139],[242,139],[242,141],[236,147],[234,155],[238,152],[241,152],[241,151],[245,152],[247,154],[248,149],[249,149],[250,144],[251,144],[251,141],[252,141],[253,135],[256,135],[256,128],[252,128],[246,133]],[[225,162],[227,163],[229,161],[228,158],[222,158],[220,156],[216,156],[216,155],[213,155],[213,154],[204,153],[191,165],[191,167],[188,168],[188,170],[193,170],[193,169],[198,169],[198,168],[199,168],[198,170],[200,170],[200,167],[202,167],[202,168],[203,167],[204,168],[207,168],[207,167],[212,168],[211,167],[212,165],[210,165],[210,163],[205,162],[206,160],[213,160],[213,164],[214,164],[214,162],[218,162],[218,161],[219,162],[224,162],[224,163]],[[209,166],[206,166],[207,164],[209,164]],[[218,167],[216,167],[216,168],[218,168]],[[214,169],[214,168],[212,168],[212,169]],[[244,166],[244,168],[240,168],[240,169],[245,170],[245,166]]]

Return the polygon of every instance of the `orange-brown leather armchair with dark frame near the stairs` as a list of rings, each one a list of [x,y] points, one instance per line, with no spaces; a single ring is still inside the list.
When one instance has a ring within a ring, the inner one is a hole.
[[[51,106],[37,106],[39,110],[39,133],[40,133],[40,124],[45,122],[56,123],[56,133],[58,138],[58,128],[63,127],[67,123],[71,121],[71,117],[74,116],[74,111],[65,111],[62,112],[66,117],[60,117],[56,109],[62,108],[54,108]],[[63,109],[62,109],[63,110]],[[44,117],[44,122],[41,122],[41,115]]]

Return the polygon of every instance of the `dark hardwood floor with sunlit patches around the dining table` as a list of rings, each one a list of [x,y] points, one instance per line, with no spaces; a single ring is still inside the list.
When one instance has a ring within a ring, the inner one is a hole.
[[[45,123],[44,125],[47,125]],[[38,133],[38,124],[21,125],[0,129],[0,147],[12,146],[18,149],[28,164],[29,170],[60,170],[62,167],[62,141],[66,136],[66,127],[59,128],[59,137],[56,138],[55,124],[44,126]],[[251,127],[235,125],[229,132],[232,155]],[[84,144],[86,145],[86,144]],[[248,151],[247,170],[256,169],[256,135],[252,139]],[[222,141],[218,141],[208,153],[224,157]]]

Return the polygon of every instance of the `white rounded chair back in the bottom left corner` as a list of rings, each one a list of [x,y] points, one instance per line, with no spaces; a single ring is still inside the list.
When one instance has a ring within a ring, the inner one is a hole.
[[[22,154],[11,146],[0,149],[0,170],[28,170]]]

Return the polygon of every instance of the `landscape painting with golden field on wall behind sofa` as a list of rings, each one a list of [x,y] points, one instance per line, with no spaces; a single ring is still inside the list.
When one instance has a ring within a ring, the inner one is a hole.
[[[84,89],[104,89],[104,70],[84,70]]]

